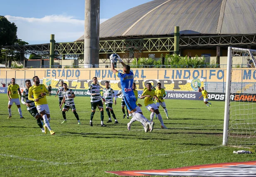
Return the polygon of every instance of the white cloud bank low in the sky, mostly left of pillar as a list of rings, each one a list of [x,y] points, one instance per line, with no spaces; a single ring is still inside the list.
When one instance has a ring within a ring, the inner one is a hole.
[[[84,20],[71,16],[50,15],[43,18],[5,16],[18,27],[18,38],[29,44],[49,43],[50,35],[55,34],[56,42],[72,42],[84,33]],[[100,23],[107,19],[100,19]]]

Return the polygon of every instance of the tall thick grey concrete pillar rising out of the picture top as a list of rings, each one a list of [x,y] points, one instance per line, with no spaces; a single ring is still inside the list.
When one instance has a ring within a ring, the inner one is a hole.
[[[100,0],[85,0],[84,66],[98,67],[100,49]]]

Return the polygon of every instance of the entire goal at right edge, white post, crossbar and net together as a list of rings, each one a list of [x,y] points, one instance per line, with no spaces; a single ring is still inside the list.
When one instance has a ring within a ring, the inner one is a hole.
[[[223,145],[256,144],[256,50],[228,48]]]

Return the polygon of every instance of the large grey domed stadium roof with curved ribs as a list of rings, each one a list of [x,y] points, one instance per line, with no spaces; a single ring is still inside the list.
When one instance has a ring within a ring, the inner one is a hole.
[[[255,24],[256,0],[153,0],[100,24],[100,38],[171,35],[174,26],[181,35],[255,34]]]

